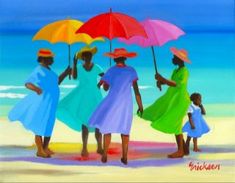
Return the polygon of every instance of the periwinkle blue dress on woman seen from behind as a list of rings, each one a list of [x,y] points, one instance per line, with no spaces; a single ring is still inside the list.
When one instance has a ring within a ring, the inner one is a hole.
[[[102,134],[128,135],[133,118],[131,87],[137,79],[132,67],[111,67],[101,79],[109,85],[109,93],[92,114],[89,125],[98,128]]]

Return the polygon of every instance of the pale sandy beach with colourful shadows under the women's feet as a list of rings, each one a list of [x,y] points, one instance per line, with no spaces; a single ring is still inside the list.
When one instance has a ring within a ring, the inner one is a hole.
[[[80,157],[81,134],[56,122],[53,158],[35,157],[34,136],[20,123],[1,118],[1,182],[235,182],[234,117],[207,117],[211,132],[199,139],[202,152],[168,159],[175,150],[174,136],[157,132],[134,118],[129,164],[120,163],[120,136],[113,135],[107,164],[95,153],[89,136],[89,159]],[[191,165],[194,166],[191,166]],[[217,167],[216,167],[217,166]],[[207,170],[206,170],[207,168]]]

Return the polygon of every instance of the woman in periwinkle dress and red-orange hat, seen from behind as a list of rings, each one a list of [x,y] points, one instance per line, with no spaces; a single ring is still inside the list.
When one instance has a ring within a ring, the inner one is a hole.
[[[114,58],[116,65],[111,67],[101,78],[99,86],[103,84],[105,90],[109,89],[109,93],[92,114],[89,125],[98,128],[104,134],[104,153],[101,158],[103,163],[107,162],[111,134],[121,134],[121,162],[127,164],[129,134],[133,118],[132,86],[139,107],[137,112],[143,112],[137,84],[137,73],[134,68],[125,65],[126,59],[135,57],[136,53],[127,52],[124,48],[119,48],[115,49],[113,53],[106,53],[105,55]]]

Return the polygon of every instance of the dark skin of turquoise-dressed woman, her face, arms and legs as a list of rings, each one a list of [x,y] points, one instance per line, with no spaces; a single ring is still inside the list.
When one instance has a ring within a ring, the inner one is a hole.
[[[92,60],[92,53],[91,52],[83,52],[82,53],[82,60],[84,61],[83,67],[84,69],[89,72],[92,70],[94,64],[91,62]],[[74,62],[73,62],[73,69],[72,69],[72,76],[74,79],[77,78],[77,62],[78,60],[74,56]],[[100,76],[103,75],[103,73],[99,74]],[[81,152],[81,156],[83,157],[88,157],[89,153],[87,150],[87,141],[88,141],[88,136],[89,136],[89,130],[87,126],[82,125],[82,142],[83,142],[83,148]],[[95,129],[95,138],[97,141],[97,153],[102,154],[103,149],[102,149],[102,134],[100,133],[99,129]]]

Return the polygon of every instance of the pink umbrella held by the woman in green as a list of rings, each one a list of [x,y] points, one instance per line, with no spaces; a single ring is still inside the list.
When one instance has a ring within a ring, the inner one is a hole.
[[[118,40],[126,44],[137,44],[142,47],[151,46],[155,72],[157,73],[157,63],[153,46],[162,46],[166,42],[175,40],[185,33],[177,26],[162,20],[148,19],[141,22],[140,24],[144,27],[145,32],[147,33],[147,38],[141,36],[133,36],[130,39],[119,38]]]

